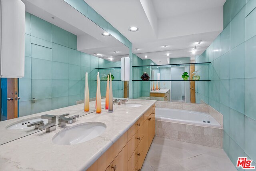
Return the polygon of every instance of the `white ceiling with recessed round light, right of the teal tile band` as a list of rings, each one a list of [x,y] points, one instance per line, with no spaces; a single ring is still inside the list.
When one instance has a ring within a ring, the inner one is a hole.
[[[84,0],[133,44],[133,53],[156,64],[200,55],[223,28],[226,0]],[[130,32],[136,26],[138,32]],[[168,45],[163,48],[163,45]],[[139,48],[140,50],[135,50]],[[161,51],[161,52],[159,52]],[[150,53],[151,52],[151,53]],[[170,53],[170,56],[166,56]],[[162,60],[162,62],[158,62]]]

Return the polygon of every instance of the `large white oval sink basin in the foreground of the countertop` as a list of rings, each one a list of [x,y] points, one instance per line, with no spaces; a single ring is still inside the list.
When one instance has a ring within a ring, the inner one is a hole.
[[[98,137],[106,130],[101,122],[86,122],[63,129],[52,137],[52,142],[58,145],[72,145],[89,141]]]

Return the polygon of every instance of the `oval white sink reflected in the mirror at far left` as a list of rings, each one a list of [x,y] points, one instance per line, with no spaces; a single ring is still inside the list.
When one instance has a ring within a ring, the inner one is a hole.
[[[36,122],[36,121],[44,121],[44,123],[48,123],[48,119],[41,119],[40,117],[33,118],[33,119],[28,118],[28,119],[23,119],[21,121],[12,123],[10,126],[7,126],[6,129],[25,129],[25,128],[34,129],[34,127],[28,127],[27,124]]]

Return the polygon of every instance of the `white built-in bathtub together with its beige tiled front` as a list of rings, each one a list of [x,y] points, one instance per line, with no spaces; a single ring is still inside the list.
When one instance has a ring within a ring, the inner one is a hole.
[[[155,114],[156,136],[222,148],[223,129],[208,113],[156,107]]]

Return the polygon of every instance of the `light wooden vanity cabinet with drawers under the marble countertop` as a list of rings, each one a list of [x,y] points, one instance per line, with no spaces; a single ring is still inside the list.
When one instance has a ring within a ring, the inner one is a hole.
[[[152,105],[87,171],[140,171],[154,135]]]

